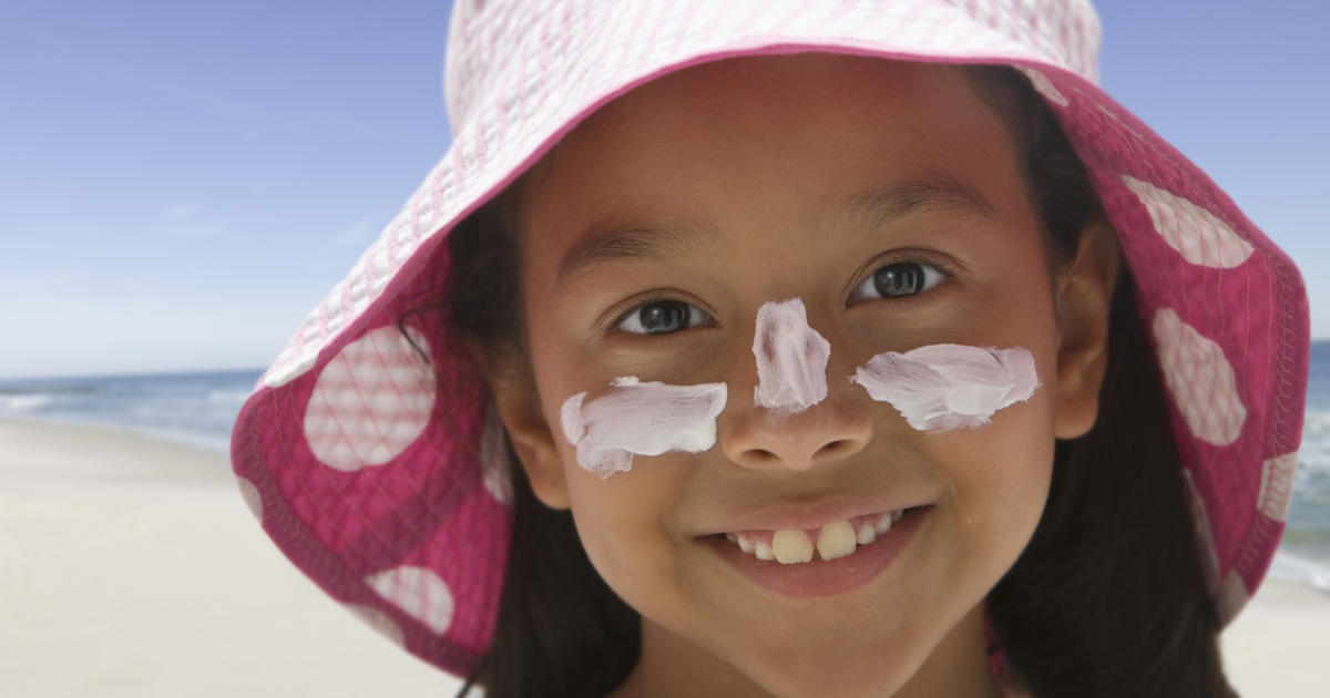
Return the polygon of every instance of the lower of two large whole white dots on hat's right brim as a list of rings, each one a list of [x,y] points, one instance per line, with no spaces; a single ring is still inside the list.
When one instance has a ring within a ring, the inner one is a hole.
[[[1242,433],[1246,408],[1224,350],[1178,319],[1172,308],[1154,314],[1153,331],[1164,383],[1188,428],[1202,441],[1232,444]]]

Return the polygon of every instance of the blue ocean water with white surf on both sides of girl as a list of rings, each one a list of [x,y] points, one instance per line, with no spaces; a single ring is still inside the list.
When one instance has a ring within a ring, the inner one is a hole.
[[[229,453],[262,371],[0,380],[0,419],[129,428]],[[1330,593],[1330,340],[1313,342],[1289,524],[1271,574]]]

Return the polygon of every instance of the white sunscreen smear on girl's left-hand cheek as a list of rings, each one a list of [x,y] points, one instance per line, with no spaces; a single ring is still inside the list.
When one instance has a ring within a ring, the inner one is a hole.
[[[614,390],[587,404],[587,392],[564,400],[564,437],[577,464],[609,477],[633,465],[633,455],[701,453],[716,444],[716,417],[725,409],[725,383],[669,386],[616,378]]]

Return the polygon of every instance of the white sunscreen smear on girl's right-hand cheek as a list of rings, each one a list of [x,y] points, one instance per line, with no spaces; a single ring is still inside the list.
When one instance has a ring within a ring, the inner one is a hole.
[[[988,424],[994,412],[1028,400],[1039,387],[1027,348],[930,344],[878,354],[850,378],[891,403],[919,431]]]

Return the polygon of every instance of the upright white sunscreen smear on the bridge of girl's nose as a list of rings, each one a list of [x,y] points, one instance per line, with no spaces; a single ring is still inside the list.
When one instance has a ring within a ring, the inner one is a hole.
[[[753,403],[758,407],[802,412],[827,396],[831,343],[809,327],[803,300],[770,302],[757,310],[753,356]]]

